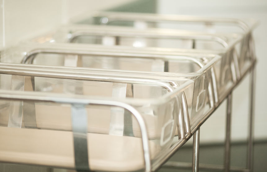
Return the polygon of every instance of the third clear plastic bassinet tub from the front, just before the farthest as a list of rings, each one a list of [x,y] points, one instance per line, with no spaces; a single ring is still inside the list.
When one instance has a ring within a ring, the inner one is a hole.
[[[139,48],[135,49],[137,53],[138,51],[145,51],[147,48],[151,54],[162,51],[168,51],[168,53],[180,51],[200,53],[200,51],[202,51],[206,54],[218,54],[222,56],[222,61],[224,61],[224,63],[231,63],[230,65],[225,65],[223,70],[225,75],[232,75],[234,82],[236,82],[236,80],[240,78],[240,70],[238,67],[239,57],[235,47],[241,46],[241,40],[242,34],[232,33],[209,34],[204,32],[158,28],[139,30],[127,27],[100,25],[70,25],[62,27],[56,32],[51,32],[29,41],[37,43],[69,42],[101,44],[112,46],[110,49],[114,49],[114,45],[120,45],[125,46],[122,49],[125,52],[128,51],[130,47],[136,47]],[[152,47],[152,49],[150,47]],[[166,47],[169,49],[166,50]],[[244,48],[247,48],[247,46],[244,45]],[[246,63],[247,68],[252,62],[251,56],[246,56],[246,58],[249,59]],[[221,80],[221,78],[217,78],[217,80]]]

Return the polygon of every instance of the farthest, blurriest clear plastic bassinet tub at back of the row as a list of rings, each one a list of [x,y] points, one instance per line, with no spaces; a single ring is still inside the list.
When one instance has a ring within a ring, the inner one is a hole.
[[[247,71],[248,62],[255,60],[252,31],[258,22],[254,19],[234,19],[201,17],[189,15],[163,15],[149,13],[125,13],[100,11],[94,14],[83,14],[73,19],[77,24],[98,24],[111,26],[128,26],[136,29],[171,28],[208,33],[240,33],[241,45],[236,45],[238,68],[241,75]]]

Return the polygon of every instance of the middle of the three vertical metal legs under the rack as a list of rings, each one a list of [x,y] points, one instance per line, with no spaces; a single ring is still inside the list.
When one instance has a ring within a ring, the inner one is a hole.
[[[227,97],[225,164],[224,164],[225,172],[228,172],[230,170],[231,114],[232,114],[232,92]]]

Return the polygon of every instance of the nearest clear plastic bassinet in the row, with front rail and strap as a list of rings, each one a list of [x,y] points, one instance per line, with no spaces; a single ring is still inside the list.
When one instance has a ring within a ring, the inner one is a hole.
[[[182,94],[193,91],[192,80],[71,67],[0,66],[3,162],[149,170],[171,150],[177,130],[185,127],[179,121]]]

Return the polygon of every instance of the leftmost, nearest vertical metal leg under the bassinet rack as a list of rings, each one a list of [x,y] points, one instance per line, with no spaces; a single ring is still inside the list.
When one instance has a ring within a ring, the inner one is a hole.
[[[192,172],[198,172],[199,164],[199,128],[194,134],[193,138],[193,164]]]

